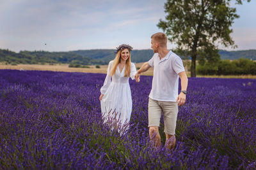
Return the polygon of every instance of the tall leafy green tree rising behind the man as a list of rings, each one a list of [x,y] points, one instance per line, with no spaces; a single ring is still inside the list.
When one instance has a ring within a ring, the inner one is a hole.
[[[169,41],[177,43],[181,55],[191,57],[191,76],[196,76],[196,58],[214,64],[220,60],[218,47],[232,46],[230,26],[239,18],[236,8],[230,6],[231,0],[168,0],[164,11],[166,21],[157,26],[166,33]],[[247,0],[250,2],[250,0]],[[243,4],[236,0],[236,4]]]

